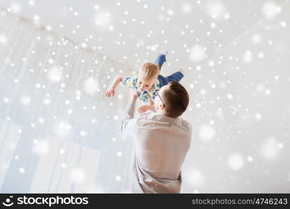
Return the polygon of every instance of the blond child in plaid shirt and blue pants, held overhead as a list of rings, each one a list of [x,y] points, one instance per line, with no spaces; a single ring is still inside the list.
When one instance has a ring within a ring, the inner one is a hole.
[[[167,54],[167,53],[166,53]],[[113,84],[106,91],[106,96],[111,97],[115,95],[115,88],[120,82],[129,88],[138,91],[138,99],[149,105],[143,105],[138,108],[139,113],[143,113],[148,109],[155,111],[153,100],[156,98],[156,91],[169,82],[179,82],[184,74],[182,70],[173,73],[168,77],[160,75],[161,67],[166,62],[166,54],[159,54],[154,63],[145,63],[138,72],[138,77],[117,77]]]

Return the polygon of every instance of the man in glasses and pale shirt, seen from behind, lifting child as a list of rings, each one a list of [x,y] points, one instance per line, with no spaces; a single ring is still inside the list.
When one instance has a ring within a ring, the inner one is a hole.
[[[191,125],[179,118],[189,97],[184,86],[170,82],[154,100],[156,112],[134,118],[137,93],[125,110],[122,130],[136,140],[133,192],[179,193],[181,167],[191,144]]]

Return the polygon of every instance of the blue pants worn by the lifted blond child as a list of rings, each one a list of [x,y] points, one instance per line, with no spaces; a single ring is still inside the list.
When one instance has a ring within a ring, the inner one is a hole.
[[[166,62],[166,56],[164,54],[159,54],[154,63],[156,63],[156,65],[158,65],[159,69],[161,70],[163,63],[165,62]],[[175,72],[168,77],[163,77],[162,75],[159,75],[157,79],[159,80],[159,84],[161,88],[162,86],[167,85],[169,82],[179,82],[183,77],[184,75],[182,74],[182,72]]]

